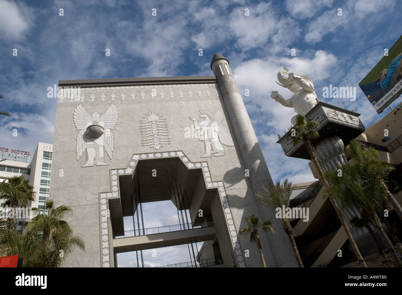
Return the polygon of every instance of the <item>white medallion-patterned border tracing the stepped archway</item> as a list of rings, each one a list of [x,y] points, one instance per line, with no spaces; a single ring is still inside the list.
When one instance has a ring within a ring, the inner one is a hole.
[[[236,227],[234,225],[232,211],[229,206],[228,198],[226,196],[226,190],[223,181],[212,181],[209,172],[209,167],[207,162],[191,162],[185,154],[181,151],[176,152],[158,152],[158,153],[144,153],[144,154],[133,154],[130,162],[127,164],[127,168],[122,169],[110,169],[110,179],[111,179],[111,191],[105,193],[99,193],[99,214],[100,214],[100,251],[101,251],[101,261],[102,267],[110,267],[110,250],[109,250],[109,237],[111,236],[111,228],[109,228],[108,223],[108,199],[120,198],[119,195],[119,177],[120,175],[133,175],[137,163],[139,160],[146,159],[158,159],[158,158],[179,158],[189,170],[191,169],[202,169],[203,177],[205,181],[205,186],[207,189],[217,188],[219,193],[219,199],[222,205],[222,210],[224,211],[226,217],[226,225],[232,238],[232,247],[236,254],[236,260],[239,267],[245,267],[244,257],[242,255],[242,250],[240,243],[238,241],[238,235]]]

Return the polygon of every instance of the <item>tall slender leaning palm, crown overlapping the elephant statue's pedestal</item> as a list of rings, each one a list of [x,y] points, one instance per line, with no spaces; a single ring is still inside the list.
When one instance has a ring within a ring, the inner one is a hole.
[[[324,177],[324,172],[321,169],[320,163],[318,163],[318,160],[316,158],[316,154],[314,152],[314,147],[312,145],[312,139],[318,138],[318,132],[316,128],[318,127],[318,122],[317,121],[307,121],[306,117],[303,115],[297,115],[296,116],[296,124],[292,127],[295,129],[296,136],[293,138],[293,145],[297,145],[299,141],[302,141],[304,146],[307,149],[308,154],[311,157],[311,160],[314,163],[314,166],[316,166],[316,169],[318,171],[318,174],[320,175],[320,178],[324,182],[325,186],[328,187],[328,182],[326,178]],[[345,229],[346,235],[349,239],[349,242],[351,243],[351,246],[353,248],[353,251],[355,252],[357,258],[359,259],[359,262],[364,266],[367,267],[366,262],[363,260],[363,256],[360,253],[359,248],[357,248],[356,242],[353,239],[352,233],[349,229],[349,226],[347,225],[345,218],[343,218],[342,213],[339,210],[339,206],[336,203],[336,200],[329,194],[328,195],[332,206],[334,206],[336,215],[338,215],[338,218],[340,220],[340,223],[343,226],[343,229]]]

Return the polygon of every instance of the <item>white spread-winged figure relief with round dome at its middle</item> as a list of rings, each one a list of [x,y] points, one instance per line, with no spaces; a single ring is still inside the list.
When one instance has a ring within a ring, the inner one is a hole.
[[[86,150],[86,163],[81,167],[109,165],[103,162],[103,149],[112,159],[113,153],[113,129],[117,122],[119,111],[111,104],[107,111],[99,117],[97,112],[89,115],[82,104],[74,111],[74,124],[78,131],[77,136],[77,160]],[[95,161],[94,161],[95,160]]]

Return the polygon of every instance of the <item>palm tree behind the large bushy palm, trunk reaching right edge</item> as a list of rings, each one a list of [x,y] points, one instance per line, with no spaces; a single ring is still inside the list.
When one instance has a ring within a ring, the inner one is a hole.
[[[378,153],[372,147],[366,147],[361,141],[353,139],[345,148],[345,154],[347,154],[354,162],[360,162],[361,165],[369,165],[372,162],[380,163],[381,160],[378,157]],[[390,166],[390,172],[395,170],[393,166]],[[386,175],[388,176],[388,174]],[[385,179],[379,180],[381,185],[384,186],[386,190],[388,201],[391,203],[392,207],[394,207],[396,213],[399,218],[402,220],[402,208],[398,201],[396,201],[394,195],[388,190],[386,186]]]

